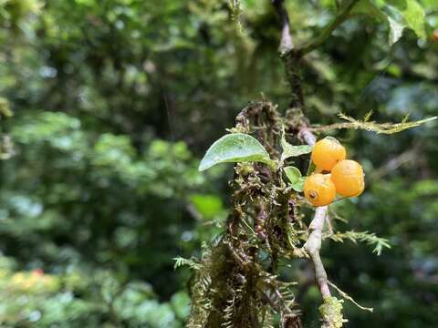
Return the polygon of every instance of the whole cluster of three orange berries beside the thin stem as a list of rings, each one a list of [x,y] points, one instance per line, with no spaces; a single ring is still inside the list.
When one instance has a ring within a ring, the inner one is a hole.
[[[323,138],[315,144],[311,160],[318,173],[308,176],[304,184],[304,195],[312,205],[331,204],[337,193],[343,197],[353,197],[363,192],[363,169],[357,161],[346,157],[345,148],[336,138]]]

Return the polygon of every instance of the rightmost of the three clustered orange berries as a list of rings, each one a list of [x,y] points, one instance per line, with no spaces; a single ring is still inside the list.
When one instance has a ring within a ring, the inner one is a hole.
[[[363,169],[357,161],[345,159],[331,170],[330,179],[344,197],[359,196],[365,188]]]

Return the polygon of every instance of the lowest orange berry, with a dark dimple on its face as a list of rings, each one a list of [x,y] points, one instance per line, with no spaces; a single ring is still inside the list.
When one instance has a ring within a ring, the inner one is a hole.
[[[312,205],[324,206],[335,200],[336,188],[328,174],[312,174],[304,183],[304,195]]]

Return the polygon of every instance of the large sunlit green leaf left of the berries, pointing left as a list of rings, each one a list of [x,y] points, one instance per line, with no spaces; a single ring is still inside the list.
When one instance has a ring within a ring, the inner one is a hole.
[[[216,140],[199,164],[199,170],[210,169],[216,164],[243,161],[266,163],[271,168],[275,162],[256,138],[245,133],[232,133]]]

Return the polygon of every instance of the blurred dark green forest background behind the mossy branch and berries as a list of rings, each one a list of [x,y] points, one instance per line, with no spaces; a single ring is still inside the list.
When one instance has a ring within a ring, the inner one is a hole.
[[[438,112],[436,0],[428,36],[357,15],[306,57],[308,118],[400,121]],[[289,0],[297,43],[334,1]],[[183,327],[190,271],[220,233],[232,165],[199,173],[203,152],[250,100],[287,108],[269,1],[242,13],[216,0],[0,0],[0,323],[2,327]],[[240,22],[240,23],[239,23]],[[11,111],[14,116],[11,117]],[[438,129],[391,137],[338,132],[367,190],[337,224],[388,238],[328,242],[328,275],[374,313],[346,304],[348,327],[436,327]],[[287,269],[307,327],[320,296],[304,262]]]

